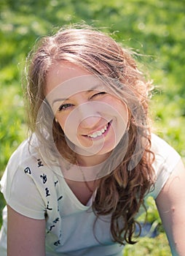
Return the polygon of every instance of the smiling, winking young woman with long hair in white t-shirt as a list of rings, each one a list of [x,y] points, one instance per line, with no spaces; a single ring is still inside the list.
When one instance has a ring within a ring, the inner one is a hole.
[[[1,256],[123,255],[148,196],[184,255],[184,165],[151,133],[151,83],[132,54],[74,27],[44,37],[28,64],[31,137],[1,179]]]

